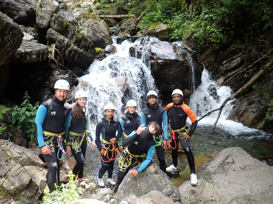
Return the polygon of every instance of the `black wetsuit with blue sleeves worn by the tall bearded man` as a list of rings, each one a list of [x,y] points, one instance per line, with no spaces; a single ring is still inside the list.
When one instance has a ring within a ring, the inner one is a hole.
[[[35,133],[40,148],[45,146],[47,141],[51,141],[47,146],[51,149],[51,154],[43,154],[44,159],[48,164],[47,182],[50,192],[58,185],[60,181],[60,160],[62,151],[60,151],[57,141],[57,136],[44,134],[43,131],[60,134],[68,131],[68,123],[71,115],[72,107],[65,101],[59,101],[55,96],[50,101],[52,110],[48,107],[48,101],[44,101],[38,108],[35,118]],[[62,136],[61,136],[62,137]],[[65,137],[63,137],[65,138]],[[64,140],[63,140],[64,141]],[[58,154],[59,151],[59,154]]]

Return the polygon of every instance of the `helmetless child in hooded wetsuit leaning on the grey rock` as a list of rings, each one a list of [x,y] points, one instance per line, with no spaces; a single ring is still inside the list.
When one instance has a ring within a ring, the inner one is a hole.
[[[114,188],[115,192],[129,170],[140,164],[143,158],[146,157],[146,160],[141,166],[129,172],[132,176],[138,175],[152,161],[155,152],[155,141],[152,136],[160,132],[161,128],[155,121],[150,122],[147,128],[143,126],[144,124],[123,139],[122,145],[127,147],[119,158],[120,170],[118,171],[117,186]]]

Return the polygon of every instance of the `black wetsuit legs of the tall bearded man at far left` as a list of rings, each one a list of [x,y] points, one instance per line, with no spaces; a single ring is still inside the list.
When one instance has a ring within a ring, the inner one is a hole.
[[[46,140],[48,141],[48,140]],[[52,140],[53,144],[55,146],[58,145],[57,137],[54,136],[54,139]],[[49,191],[52,192],[55,190],[55,183],[58,185],[60,183],[60,160],[57,158],[57,153],[59,150],[59,147],[54,147],[54,145],[49,144],[49,148],[51,149],[51,155],[50,154],[43,154],[44,159],[46,160],[46,163],[48,164],[48,174],[46,175],[47,183]],[[62,151],[59,151],[59,158],[62,157]]]

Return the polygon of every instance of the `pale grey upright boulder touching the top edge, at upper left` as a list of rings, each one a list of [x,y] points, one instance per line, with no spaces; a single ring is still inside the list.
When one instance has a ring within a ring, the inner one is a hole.
[[[55,0],[38,1],[36,23],[40,28],[48,28],[54,13],[59,11],[59,3]]]

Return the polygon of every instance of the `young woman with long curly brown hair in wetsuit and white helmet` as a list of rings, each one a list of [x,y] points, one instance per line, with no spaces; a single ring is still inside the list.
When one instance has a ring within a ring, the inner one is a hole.
[[[76,160],[72,172],[78,175],[77,184],[83,181],[84,158],[87,148],[88,136],[91,140],[91,149],[95,148],[92,138],[89,122],[88,110],[85,107],[87,93],[85,91],[77,91],[75,94],[76,103],[72,104],[72,115],[69,121],[69,134],[66,138],[66,154],[72,156]]]

